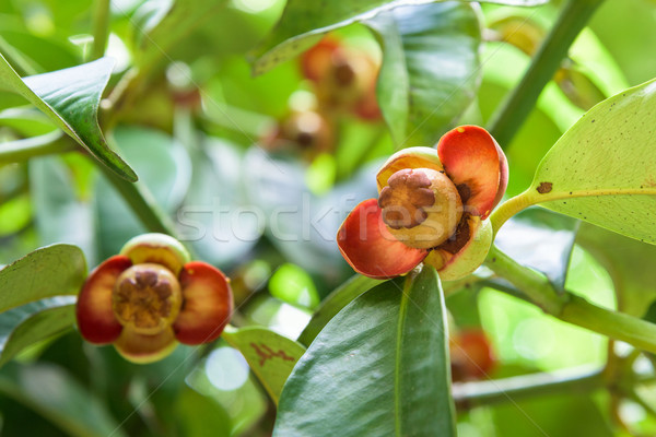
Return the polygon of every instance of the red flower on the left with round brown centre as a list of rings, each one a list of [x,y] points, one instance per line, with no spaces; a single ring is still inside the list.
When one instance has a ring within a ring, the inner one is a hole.
[[[230,280],[219,269],[190,261],[173,237],[144,234],[89,275],[75,315],[86,341],[113,343],[126,359],[152,363],[178,342],[216,340],[232,309]]]

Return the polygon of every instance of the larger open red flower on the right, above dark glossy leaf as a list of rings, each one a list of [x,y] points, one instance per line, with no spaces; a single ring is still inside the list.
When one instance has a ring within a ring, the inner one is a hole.
[[[487,217],[507,186],[506,157],[487,130],[461,126],[437,147],[391,155],[376,175],[378,199],[360,203],[337,233],[351,267],[374,279],[408,273],[420,262],[443,280],[475,271],[492,245]]]

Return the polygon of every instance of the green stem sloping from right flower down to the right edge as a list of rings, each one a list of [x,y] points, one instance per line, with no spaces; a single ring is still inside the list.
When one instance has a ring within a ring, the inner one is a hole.
[[[656,324],[598,307],[566,291],[557,292],[544,275],[492,247],[485,265],[508,280],[544,312],[563,321],[656,353]]]

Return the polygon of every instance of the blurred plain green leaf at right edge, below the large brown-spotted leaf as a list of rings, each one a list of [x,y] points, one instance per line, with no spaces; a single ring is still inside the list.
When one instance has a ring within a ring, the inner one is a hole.
[[[656,299],[656,247],[589,224],[581,226],[576,243],[607,269],[618,310],[643,317]]]

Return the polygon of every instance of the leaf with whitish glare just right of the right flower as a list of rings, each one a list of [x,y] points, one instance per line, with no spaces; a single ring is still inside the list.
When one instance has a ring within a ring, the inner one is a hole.
[[[522,264],[541,271],[559,290],[565,286],[578,221],[534,208],[499,231],[495,244]]]

